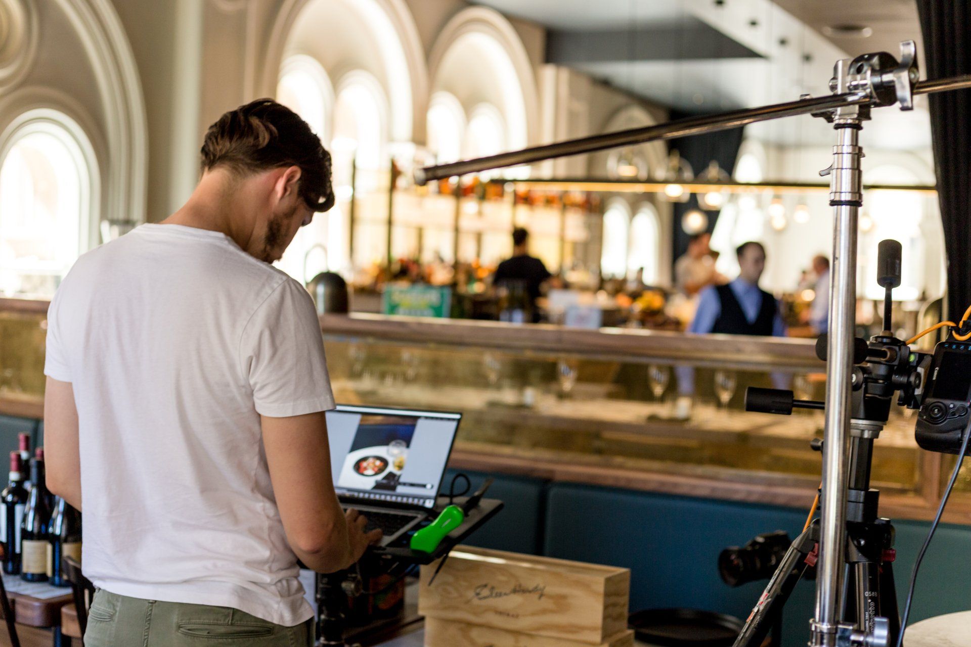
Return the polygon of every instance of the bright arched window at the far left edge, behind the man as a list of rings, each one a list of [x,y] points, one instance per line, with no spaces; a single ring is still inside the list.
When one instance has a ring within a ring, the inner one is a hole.
[[[63,113],[25,113],[0,142],[0,293],[50,296],[92,240],[98,169]]]

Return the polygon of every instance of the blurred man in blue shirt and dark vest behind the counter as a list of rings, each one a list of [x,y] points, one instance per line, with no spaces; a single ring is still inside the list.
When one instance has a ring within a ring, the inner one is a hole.
[[[727,285],[710,285],[698,295],[698,309],[688,333],[763,335],[786,337],[779,304],[758,287],[765,270],[765,247],[742,243],[738,254],[738,278]]]

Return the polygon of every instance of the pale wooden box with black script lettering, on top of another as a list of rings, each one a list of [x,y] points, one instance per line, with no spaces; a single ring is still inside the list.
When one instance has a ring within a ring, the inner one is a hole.
[[[421,567],[419,613],[439,620],[600,645],[627,629],[630,571],[458,546]]]

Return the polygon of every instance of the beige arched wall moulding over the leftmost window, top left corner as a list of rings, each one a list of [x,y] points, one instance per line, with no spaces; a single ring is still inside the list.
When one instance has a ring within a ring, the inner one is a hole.
[[[24,113],[63,113],[97,160],[98,219],[145,220],[148,134],[134,56],[109,0],[0,0],[0,147]],[[17,43],[16,51],[8,49]]]

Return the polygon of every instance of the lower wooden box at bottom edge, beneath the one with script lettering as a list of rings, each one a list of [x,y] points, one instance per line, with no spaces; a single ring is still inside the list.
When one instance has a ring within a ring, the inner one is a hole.
[[[425,647],[591,647],[586,642],[425,618]],[[596,647],[633,647],[634,632],[620,631]]]

